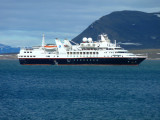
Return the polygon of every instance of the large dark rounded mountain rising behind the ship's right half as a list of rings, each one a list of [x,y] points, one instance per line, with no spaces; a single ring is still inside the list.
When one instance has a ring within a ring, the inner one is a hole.
[[[108,34],[127,49],[160,48],[160,13],[119,11],[101,17],[73,39],[80,43],[83,37],[97,40],[99,34]]]

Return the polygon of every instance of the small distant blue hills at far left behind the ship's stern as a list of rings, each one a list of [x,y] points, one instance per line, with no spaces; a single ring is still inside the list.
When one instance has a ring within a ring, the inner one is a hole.
[[[0,54],[19,53],[20,48],[13,48],[7,45],[0,44]]]

